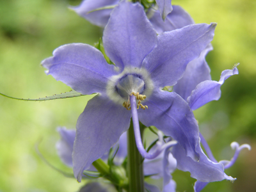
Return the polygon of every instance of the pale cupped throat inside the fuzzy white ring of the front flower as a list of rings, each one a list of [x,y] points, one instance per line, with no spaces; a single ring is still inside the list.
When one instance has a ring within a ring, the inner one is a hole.
[[[124,98],[129,99],[131,93],[143,93],[145,83],[140,77],[129,74],[122,77],[116,84],[118,94]]]

